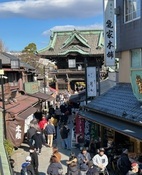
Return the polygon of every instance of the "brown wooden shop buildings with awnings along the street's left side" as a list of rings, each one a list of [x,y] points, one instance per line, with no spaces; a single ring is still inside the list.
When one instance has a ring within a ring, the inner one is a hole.
[[[42,102],[50,100],[52,93],[39,92],[38,82],[33,81],[35,69],[29,64],[8,53],[0,53],[0,60],[0,71],[4,71],[4,75],[0,75],[0,110],[3,112],[4,134],[18,147],[35,113],[41,117]]]

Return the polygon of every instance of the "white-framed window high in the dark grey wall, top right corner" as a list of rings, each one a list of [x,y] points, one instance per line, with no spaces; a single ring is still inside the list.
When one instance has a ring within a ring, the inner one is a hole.
[[[140,18],[140,2],[141,0],[125,0],[124,1],[124,17],[125,22],[133,21]]]

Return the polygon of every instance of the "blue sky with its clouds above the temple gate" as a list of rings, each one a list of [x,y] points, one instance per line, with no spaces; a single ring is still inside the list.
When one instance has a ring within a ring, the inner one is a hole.
[[[34,42],[47,46],[51,31],[102,29],[103,0],[1,0],[0,40],[8,51]]]

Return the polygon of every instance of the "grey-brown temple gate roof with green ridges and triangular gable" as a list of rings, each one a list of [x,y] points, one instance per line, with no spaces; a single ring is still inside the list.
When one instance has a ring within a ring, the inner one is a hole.
[[[50,37],[49,45],[45,49],[39,50],[38,53],[39,55],[60,55],[60,53],[66,53],[68,50],[72,51],[71,43],[75,42],[79,50],[85,53],[103,54],[102,33],[103,30],[54,31]]]

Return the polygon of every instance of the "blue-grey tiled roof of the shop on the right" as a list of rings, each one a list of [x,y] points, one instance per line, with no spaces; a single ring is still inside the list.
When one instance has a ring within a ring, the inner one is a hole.
[[[119,83],[86,106],[96,113],[142,123],[142,104],[133,94],[131,84]]]

